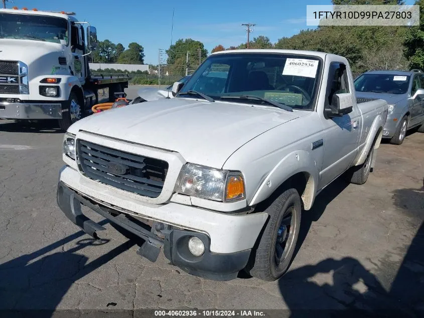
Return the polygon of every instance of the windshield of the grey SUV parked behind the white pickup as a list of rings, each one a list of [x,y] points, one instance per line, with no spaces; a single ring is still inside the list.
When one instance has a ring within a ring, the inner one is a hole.
[[[355,90],[404,94],[408,91],[409,77],[395,74],[362,74],[355,79]]]

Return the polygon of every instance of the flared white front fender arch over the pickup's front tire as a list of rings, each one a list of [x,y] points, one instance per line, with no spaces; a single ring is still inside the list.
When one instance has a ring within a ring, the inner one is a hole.
[[[293,175],[306,174],[307,185],[304,193],[299,193],[304,207],[309,210],[317,193],[319,171],[312,155],[305,150],[297,150],[282,158],[265,177],[249,205],[257,204],[269,197],[282,183]]]

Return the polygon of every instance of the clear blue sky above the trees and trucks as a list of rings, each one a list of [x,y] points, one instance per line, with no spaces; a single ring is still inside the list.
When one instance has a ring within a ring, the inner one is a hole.
[[[406,4],[413,4],[407,0]],[[8,8],[73,11],[78,19],[97,28],[99,40],[122,43],[125,48],[137,42],[145,48],[145,63],[158,64],[158,49],[171,44],[172,11],[175,7],[173,42],[192,38],[204,43],[210,53],[218,44],[224,47],[246,42],[241,23],[255,23],[252,37],[265,35],[272,42],[307,29],[306,6],[331,5],[330,0],[13,0]],[[309,27],[313,28],[313,27]]]

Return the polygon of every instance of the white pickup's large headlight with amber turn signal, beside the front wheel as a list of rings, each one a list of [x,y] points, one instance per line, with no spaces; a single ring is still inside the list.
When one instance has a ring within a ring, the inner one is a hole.
[[[237,201],[245,197],[240,172],[213,169],[187,163],[181,169],[175,192],[214,201]]]

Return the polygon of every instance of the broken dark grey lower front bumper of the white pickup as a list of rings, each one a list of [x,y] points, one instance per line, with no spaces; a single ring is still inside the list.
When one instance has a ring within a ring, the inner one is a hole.
[[[106,203],[98,203],[78,193],[62,181],[58,184],[57,203],[69,220],[93,238],[97,239],[97,232],[105,228],[87,218],[82,213],[81,204],[108,219],[119,229],[143,239],[144,242],[140,244],[137,251],[140,256],[155,262],[163,248],[171,264],[192,275],[213,280],[231,280],[237,277],[238,272],[246,266],[249,259],[251,249],[222,254],[211,252],[210,238],[207,234],[183,230],[156,221],[153,227],[149,227],[137,218],[121,213]],[[193,236],[199,238],[205,246],[205,252],[198,257],[188,250],[187,242]]]

